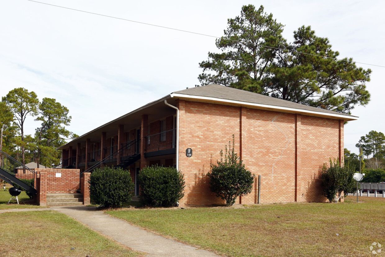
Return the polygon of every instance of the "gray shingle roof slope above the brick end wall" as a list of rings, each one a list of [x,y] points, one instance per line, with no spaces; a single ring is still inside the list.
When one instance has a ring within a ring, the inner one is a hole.
[[[346,115],[346,118],[357,119],[357,116],[352,116],[349,114],[338,113],[336,111],[330,111],[326,109],[316,108],[312,106],[307,106],[304,104],[298,104],[296,102],[286,101],[278,99],[275,97],[265,96],[262,94],[257,94],[249,91],[244,91],[241,89],[236,89],[232,87],[221,86],[217,84],[211,84],[200,87],[191,87],[189,89],[184,89],[180,91],[175,91],[173,94],[186,94],[188,96],[201,96],[201,97],[214,97],[219,99],[226,99],[239,102],[249,102],[253,104],[263,104],[269,106],[276,106],[278,109],[283,108],[292,108],[306,111],[313,111],[331,115]]]

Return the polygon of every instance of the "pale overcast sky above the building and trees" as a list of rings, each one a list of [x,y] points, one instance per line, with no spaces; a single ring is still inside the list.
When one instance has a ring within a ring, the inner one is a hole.
[[[385,66],[382,1],[127,1],[42,0],[67,8],[222,36],[242,5],[264,5],[285,25],[283,35],[311,25],[340,57]],[[0,96],[16,87],[69,108],[70,131],[82,135],[173,91],[194,87],[199,62],[218,52],[215,38],[78,12],[28,0],[0,1]],[[370,130],[385,133],[384,67],[372,69],[370,103],[345,125],[345,147]],[[28,117],[27,134],[39,124]]]

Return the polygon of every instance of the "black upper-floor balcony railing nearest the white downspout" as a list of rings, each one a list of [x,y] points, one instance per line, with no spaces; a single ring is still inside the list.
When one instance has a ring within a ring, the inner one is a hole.
[[[146,151],[157,151],[176,147],[176,129],[167,130],[154,135],[146,136]]]

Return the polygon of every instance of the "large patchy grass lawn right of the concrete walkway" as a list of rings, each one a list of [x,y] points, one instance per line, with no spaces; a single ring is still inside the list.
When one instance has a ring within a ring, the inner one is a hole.
[[[385,255],[385,198],[356,199],[106,213],[228,256],[372,256],[373,242],[384,245],[377,256]]]

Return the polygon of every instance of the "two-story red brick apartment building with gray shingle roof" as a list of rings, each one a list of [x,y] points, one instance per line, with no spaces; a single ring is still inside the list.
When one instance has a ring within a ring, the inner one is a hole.
[[[344,122],[355,119],[212,84],[172,92],[59,149],[62,168],[85,171],[104,160],[103,165],[130,170],[136,194],[141,168],[175,166],[186,180],[180,204],[206,205],[223,203],[209,190],[206,174],[234,134],[236,152],[257,175],[251,194],[238,203],[257,203],[258,190],[261,203],[322,202],[320,166],[329,158],[343,160]]]

